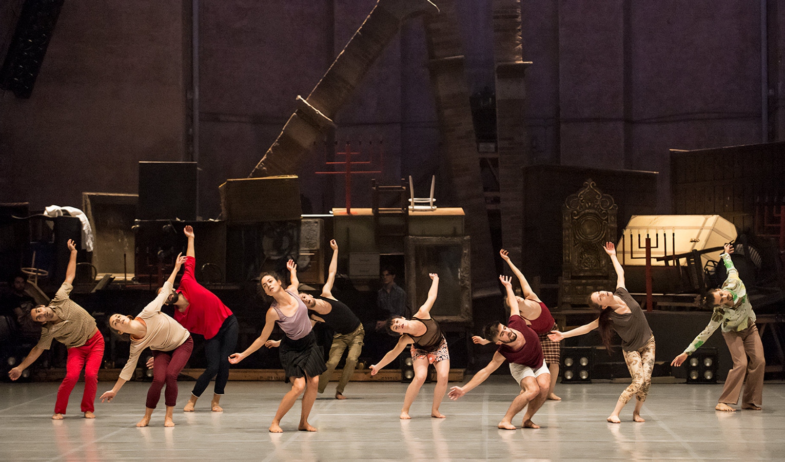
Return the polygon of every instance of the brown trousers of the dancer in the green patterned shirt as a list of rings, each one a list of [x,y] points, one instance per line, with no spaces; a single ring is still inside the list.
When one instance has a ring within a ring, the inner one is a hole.
[[[747,386],[744,387],[742,405],[763,404],[763,373],[766,369],[766,360],[763,358],[763,343],[758,334],[758,326],[754,323],[739,332],[722,332],[725,343],[733,358],[733,369],[728,372],[725,387],[719,402],[735,405],[739,402],[744,376],[747,376]],[[749,360],[747,360],[749,357]]]

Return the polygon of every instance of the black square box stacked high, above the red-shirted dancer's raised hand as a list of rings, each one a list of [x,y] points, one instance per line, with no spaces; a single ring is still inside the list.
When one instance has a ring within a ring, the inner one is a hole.
[[[139,163],[137,218],[195,221],[197,193],[195,162]]]

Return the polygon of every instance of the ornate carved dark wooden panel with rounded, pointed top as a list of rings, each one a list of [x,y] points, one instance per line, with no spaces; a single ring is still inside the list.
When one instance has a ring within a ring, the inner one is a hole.
[[[615,272],[603,246],[616,240],[618,208],[613,197],[597,189],[591,178],[564,201],[564,261],[559,297],[562,308],[585,306],[592,292],[613,288]]]

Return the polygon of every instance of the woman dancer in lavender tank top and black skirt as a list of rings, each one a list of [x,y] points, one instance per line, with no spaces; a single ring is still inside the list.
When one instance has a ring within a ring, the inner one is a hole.
[[[287,269],[290,273],[295,273],[297,265],[289,260]],[[297,281],[296,275],[293,279]],[[278,351],[279,358],[287,377],[286,381],[292,383],[292,388],[283,395],[269,430],[272,433],[283,431],[280,427],[281,419],[289,412],[298,396],[302,394],[298,430],[316,431],[316,427],[308,423],[308,416],[311,413],[313,402],[316,401],[319,374],[327,369],[327,365],[324,364],[321,347],[316,345],[316,336],[313,335],[311,321],[308,317],[308,307],[298,297],[297,284],[290,284],[288,288],[284,289],[280,278],[275,273],[262,273],[259,283],[265,294],[273,298],[272,305],[267,310],[265,317],[265,328],[261,330],[259,338],[254,340],[254,343],[251,343],[243,353],[229,356],[229,362],[237,364],[239,361],[243,361],[262,345],[268,348],[281,347]],[[286,335],[283,336],[283,340],[268,340],[276,322]],[[305,394],[303,394],[304,391]]]

